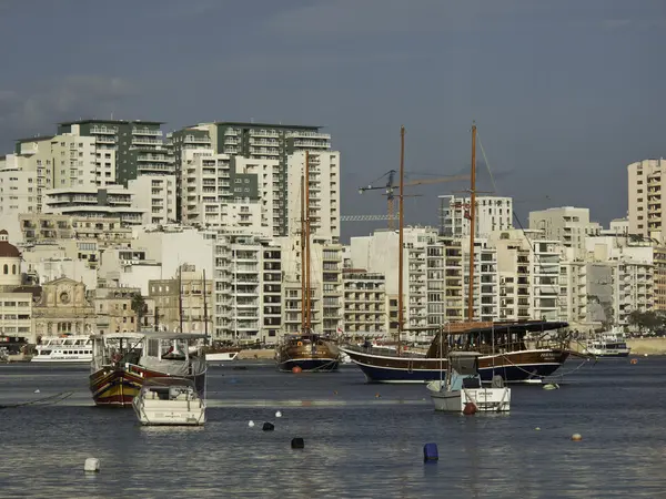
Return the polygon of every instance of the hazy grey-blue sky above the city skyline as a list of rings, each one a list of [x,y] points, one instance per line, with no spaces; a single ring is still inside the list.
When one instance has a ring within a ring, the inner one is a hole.
[[[478,190],[523,224],[626,216],[626,165],[666,154],[665,0],[0,0],[0,154],[111,115],[321,125],[344,215],[385,214],[357,187],[400,166],[401,125],[416,180],[467,173],[475,122]],[[410,187],[405,223],[465,189]]]

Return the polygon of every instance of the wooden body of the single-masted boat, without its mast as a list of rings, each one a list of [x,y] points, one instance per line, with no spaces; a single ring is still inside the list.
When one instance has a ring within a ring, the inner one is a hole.
[[[340,352],[332,342],[314,334],[287,336],[278,347],[278,368],[291,373],[295,367],[302,371],[330,373],[337,370]]]

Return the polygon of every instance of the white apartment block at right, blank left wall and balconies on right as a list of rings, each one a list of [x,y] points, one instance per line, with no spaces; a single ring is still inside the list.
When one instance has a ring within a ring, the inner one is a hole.
[[[591,319],[627,327],[634,310],[654,308],[654,254],[650,242],[599,236],[587,240]]]

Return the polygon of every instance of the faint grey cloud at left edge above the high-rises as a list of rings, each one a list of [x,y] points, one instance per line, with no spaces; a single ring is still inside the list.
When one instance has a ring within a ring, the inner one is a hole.
[[[121,78],[78,74],[32,90],[0,89],[0,146],[36,133],[51,133],[58,121],[109,115],[135,94]]]

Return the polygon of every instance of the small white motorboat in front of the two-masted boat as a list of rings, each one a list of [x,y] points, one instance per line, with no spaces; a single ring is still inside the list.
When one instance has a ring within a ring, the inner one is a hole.
[[[435,410],[445,413],[503,413],[511,408],[511,388],[504,386],[500,376],[493,378],[492,387],[481,384],[477,352],[451,352],[446,377],[431,381],[427,389]],[[444,375],[444,374],[443,374]]]

